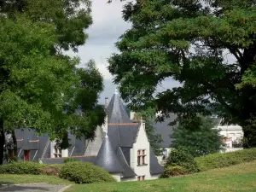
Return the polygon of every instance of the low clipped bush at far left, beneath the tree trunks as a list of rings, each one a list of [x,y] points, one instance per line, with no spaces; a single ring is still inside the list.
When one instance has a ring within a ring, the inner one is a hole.
[[[7,165],[0,166],[0,173],[8,173],[8,174],[32,174],[39,175],[43,172],[44,165],[29,162],[29,161],[20,161],[20,162],[12,162]]]

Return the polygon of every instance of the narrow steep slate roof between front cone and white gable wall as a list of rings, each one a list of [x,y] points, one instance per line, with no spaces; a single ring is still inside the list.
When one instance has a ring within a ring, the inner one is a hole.
[[[119,159],[120,165],[123,167],[122,175],[123,177],[135,177],[137,174],[131,169],[128,162],[125,160],[125,156],[121,150],[121,148],[117,148],[117,157]]]

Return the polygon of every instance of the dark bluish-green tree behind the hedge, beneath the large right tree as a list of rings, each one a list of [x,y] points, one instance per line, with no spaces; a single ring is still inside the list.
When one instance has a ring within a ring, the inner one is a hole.
[[[201,117],[199,125],[193,128],[190,127],[190,124],[179,124],[177,128],[173,129],[171,147],[186,148],[194,157],[218,153],[224,147],[222,142],[224,138],[219,135],[217,129],[212,129],[217,125],[214,120],[209,117]]]

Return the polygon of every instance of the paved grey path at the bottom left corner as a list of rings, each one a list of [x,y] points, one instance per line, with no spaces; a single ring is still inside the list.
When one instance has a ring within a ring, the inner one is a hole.
[[[31,184],[11,184],[11,185],[0,185],[0,191],[9,192],[64,192],[70,186],[57,185],[57,184],[46,184],[46,183],[31,183]]]

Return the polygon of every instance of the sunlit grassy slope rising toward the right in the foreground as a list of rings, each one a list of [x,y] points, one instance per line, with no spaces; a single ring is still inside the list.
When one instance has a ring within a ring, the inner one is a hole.
[[[70,191],[256,191],[256,161],[185,177],[73,185]]]

